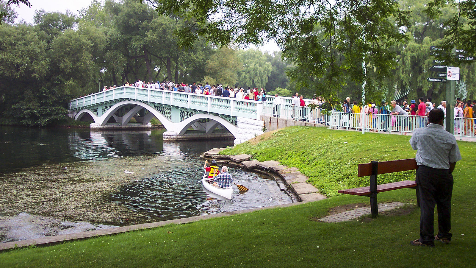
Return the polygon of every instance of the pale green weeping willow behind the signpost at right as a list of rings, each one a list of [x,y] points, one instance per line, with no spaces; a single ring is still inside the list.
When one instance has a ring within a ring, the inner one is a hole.
[[[448,21],[456,11],[456,7],[446,5],[441,8],[442,15],[432,18],[427,15],[427,0],[401,0],[401,6],[408,11],[409,27],[407,29],[408,41],[405,44],[397,46],[397,68],[395,77],[391,79],[389,86],[390,91],[394,91],[393,85],[397,91],[405,92],[410,89],[409,99],[417,99],[424,97],[433,98],[435,101],[446,99],[446,85],[444,83],[428,82],[428,77],[435,77],[437,73],[431,72],[429,69],[435,64],[433,61],[437,59],[434,51],[430,50],[431,46],[439,47],[445,38],[445,21]],[[461,66],[460,80],[465,81],[468,96],[475,92],[474,64]],[[468,75],[469,74],[469,75]]]

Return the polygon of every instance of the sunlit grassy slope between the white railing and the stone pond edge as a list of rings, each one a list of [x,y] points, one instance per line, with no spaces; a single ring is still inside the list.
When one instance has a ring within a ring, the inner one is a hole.
[[[409,139],[402,135],[290,127],[271,134],[259,144],[238,144],[222,154],[244,152],[259,161],[277,160],[283,165],[296,166],[321,193],[335,196],[339,189],[368,185],[367,177],[357,177],[358,164],[414,158]],[[379,175],[378,181],[382,184],[414,178],[415,172],[408,171]]]

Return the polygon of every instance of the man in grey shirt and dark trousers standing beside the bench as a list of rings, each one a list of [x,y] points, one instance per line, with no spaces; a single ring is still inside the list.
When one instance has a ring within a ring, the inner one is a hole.
[[[417,184],[420,192],[420,238],[411,241],[414,246],[435,246],[435,240],[451,241],[451,194],[453,170],[461,160],[453,134],[443,129],[445,114],[433,109],[428,124],[417,128],[410,139],[413,150],[418,150]],[[435,205],[438,211],[438,234],[434,233]]]

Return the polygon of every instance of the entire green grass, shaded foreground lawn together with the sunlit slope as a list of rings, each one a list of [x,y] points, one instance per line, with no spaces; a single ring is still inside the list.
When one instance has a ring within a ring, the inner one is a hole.
[[[368,178],[356,177],[358,163],[414,157],[408,140],[400,135],[323,128],[283,129],[256,145],[245,143],[230,150],[297,166],[332,197],[185,225],[10,250],[0,253],[0,267],[475,267],[474,143],[458,142],[463,160],[454,173],[449,245],[410,245],[410,240],[418,238],[417,208],[400,216],[351,222],[312,220],[326,216],[335,206],[368,204],[367,197],[338,195],[337,189],[367,183]],[[415,203],[415,191],[381,193],[378,201]]]

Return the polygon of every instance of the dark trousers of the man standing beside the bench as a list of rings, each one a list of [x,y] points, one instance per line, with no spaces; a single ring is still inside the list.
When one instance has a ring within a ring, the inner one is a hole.
[[[438,237],[451,240],[451,194],[453,175],[449,169],[418,166],[417,184],[420,191],[420,239],[424,244],[435,244],[433,227],[435,205],[438,212]]]

